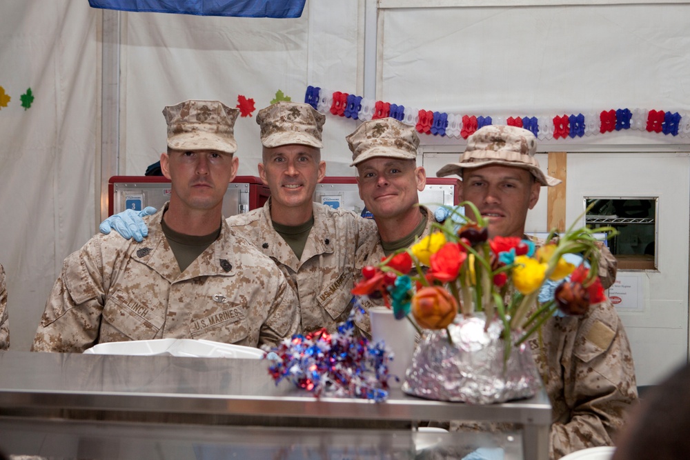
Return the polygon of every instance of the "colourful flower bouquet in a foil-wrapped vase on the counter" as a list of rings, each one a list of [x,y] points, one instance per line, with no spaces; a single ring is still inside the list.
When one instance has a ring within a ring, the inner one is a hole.
[[[541,381],[527,340],[554,314],[584,314],[605,300],[593,236],[602,231],[613,229],[573,224],[545,242],[489,238],[482,217],[456,213],[365,267],[353,293],[381,295],[421,334],[402,386],[408,394],[469,403],[531,397]]]

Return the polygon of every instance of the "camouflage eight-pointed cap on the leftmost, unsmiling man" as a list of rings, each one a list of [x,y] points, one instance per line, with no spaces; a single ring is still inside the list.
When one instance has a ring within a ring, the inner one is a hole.
[[[173,150],[237,152],[235,120],[239,109],[219,101],[184,101],[167,106],[168,147]]]

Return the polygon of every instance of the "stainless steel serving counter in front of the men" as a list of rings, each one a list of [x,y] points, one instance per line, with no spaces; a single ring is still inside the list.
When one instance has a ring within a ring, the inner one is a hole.
[[[428,401],[394,388],[383,403],[275,385],[254,359],[0,352],[0,451],[89,459],[412,459],[501,447],[548,459],[551,406]],[[444,433],[424,421],[520,423]],[[444,453],[445,452],[445,453]],[[452,452],[452,453],[451,453]],[[458,457],[458,458],[460,458]]]

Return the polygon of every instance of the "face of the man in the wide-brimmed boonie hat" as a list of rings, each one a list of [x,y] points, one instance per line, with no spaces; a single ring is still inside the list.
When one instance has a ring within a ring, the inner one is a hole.
[[[489,237],[522,237],[527,211],[539,199],[540,184],[533,175],[513,166],[466,168],[458,181],[460,201],[471,201],[489,221]],[[465,214],[473,217],[468,206]]]

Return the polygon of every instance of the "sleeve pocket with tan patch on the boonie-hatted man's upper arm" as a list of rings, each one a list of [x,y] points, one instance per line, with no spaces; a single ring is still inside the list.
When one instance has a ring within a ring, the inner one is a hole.
[[[618,314],[613,307],[607,303],[591,306],[589,316],[584,319],[584,323],[578,332],[577,341],[579,346],[575,348],[576,357],[589,363],[595,357],[606,352],[616,336],[618,330]]]

